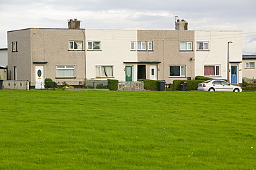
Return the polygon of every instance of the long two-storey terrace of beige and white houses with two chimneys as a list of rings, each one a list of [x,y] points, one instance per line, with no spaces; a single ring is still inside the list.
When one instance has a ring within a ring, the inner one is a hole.
[[[184,20],[176,21],[176,30],[81,29],[80,21],[71,19],[68,29],[8,31],[8,68],[11,79],[28,80],[35,88],[42,88],[45,78],[70,84],[84,79],[172,83],[196,75],[241,84],[241,33],[188,30]]]

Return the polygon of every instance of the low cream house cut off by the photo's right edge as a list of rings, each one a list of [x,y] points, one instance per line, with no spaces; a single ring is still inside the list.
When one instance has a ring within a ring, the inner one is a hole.
[[[243,55],[243,77],[256,79],[256,55]]]

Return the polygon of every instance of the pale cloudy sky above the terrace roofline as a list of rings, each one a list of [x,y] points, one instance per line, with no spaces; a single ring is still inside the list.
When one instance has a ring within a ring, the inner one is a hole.
[[[68,28],[174,30],[174,16],[188,30],[243,30],[243,54],[256,55],[255,0],[0,0],[0,48],[7,31]]]

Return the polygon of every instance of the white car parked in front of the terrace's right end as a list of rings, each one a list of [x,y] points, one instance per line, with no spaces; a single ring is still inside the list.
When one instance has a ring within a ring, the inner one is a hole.
[[[228,82],[220,79],[212,79],[212,80],[207,80],[203,83],[200,83],[197,90],[198,91],[233,91],[233,92],[243,91],[241,87],[231,85]]]

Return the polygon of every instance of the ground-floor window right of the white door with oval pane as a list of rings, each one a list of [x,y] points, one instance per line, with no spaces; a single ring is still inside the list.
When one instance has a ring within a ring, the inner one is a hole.
[[[56,77],[73,78],[75,77],[75,66],[56,66]]]

